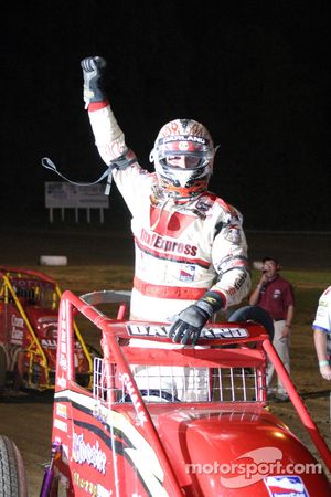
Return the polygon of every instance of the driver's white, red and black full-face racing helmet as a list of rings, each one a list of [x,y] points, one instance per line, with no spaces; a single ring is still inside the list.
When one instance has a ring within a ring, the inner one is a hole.
[[[166,124],[150,152],[159,187],[169,197],[196,197],[207,189],[215,148],[209,130],[193,119]]]

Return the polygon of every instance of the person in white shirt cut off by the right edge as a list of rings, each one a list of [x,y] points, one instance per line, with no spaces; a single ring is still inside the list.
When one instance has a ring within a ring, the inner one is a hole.
[[[331,380],[331,286],[320,296],[312,328],[320,373],[324,380]]]

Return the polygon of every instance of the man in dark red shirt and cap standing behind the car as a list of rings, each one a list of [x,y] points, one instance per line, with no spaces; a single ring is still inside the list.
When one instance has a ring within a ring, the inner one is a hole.
[[[280,265],[274,257],[263,258],[261,277],[249,297],[249,304],[265,309],[274,319],[274,347],[286,370],[290,374],[290,330],[295,314],[295,294],[292,285],[279,275]],[[277,388],[271,388],[275,368],[271,362],[267,369],[267,387],[269,396],[276,395],[278,401],[288,400],[288,394],[277,377]]]

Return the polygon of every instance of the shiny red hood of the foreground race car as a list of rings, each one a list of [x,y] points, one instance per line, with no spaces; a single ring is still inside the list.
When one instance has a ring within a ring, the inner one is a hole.
[[[323,474],[302,474],[302,465],[317,461],[260,405],[184,408],[152,417],[188,495],[270,496],[275,482],[288,488],[285,495],[306,495],[302,488],[307,495],[329,495]]]

